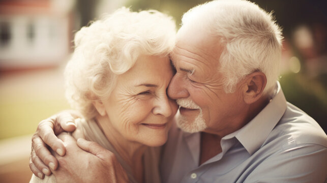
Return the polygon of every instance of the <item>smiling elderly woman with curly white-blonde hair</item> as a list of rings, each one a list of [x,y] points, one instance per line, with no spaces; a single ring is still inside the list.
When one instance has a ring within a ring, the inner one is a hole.
[[[75,36],[65,71],[67,98],[83,118],[72,135],[110,150],[131,182],[160,182],[154,147],[166,142],[177,110],[166,94],[174,38],[170,17],[126,8]],[[31,182],[38,181],[55,177],[33,175]]]

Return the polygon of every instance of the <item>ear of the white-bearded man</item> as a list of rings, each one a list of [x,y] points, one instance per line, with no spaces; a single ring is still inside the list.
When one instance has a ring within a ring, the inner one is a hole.
[[[246,76],[243,85],[243,99],[247,104],[256,102],[262,96],[267,78],[262,72],[254,72]]]

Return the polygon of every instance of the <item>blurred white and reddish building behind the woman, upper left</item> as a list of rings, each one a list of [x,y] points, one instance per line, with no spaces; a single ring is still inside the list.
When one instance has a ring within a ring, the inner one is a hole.
[[[47,68],[69,54],[74,0],[0,0],[0,71]]]

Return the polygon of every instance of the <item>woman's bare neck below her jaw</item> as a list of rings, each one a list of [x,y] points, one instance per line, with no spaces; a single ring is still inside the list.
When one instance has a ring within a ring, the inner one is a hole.
[[[97,116],[96,121],[117,153],[131,167],[133,171],[131,173],[133,173],[134,178],[138,182],[142,182],[144,169],[143,154],[147,146],[124,138],[122,134],[117,132],[111,125],[107,116]]]

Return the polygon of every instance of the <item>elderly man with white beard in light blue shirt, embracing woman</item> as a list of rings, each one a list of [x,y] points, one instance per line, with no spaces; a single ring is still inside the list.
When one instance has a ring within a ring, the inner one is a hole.
[[[162,181],[324,182],[327,136],[285,100],[277,81],[282,37],[272,15],[247,1],[213,1],[189,10],[182,22],[168,87],[180,109],[162,151]],[[45,164],[57,168],[41,139],[64,155],[51,129],[62,131],[61,124],[71,131],[71,120],[60,114],[40,123],[30,163],[35,174],[43,175]],[[93,145],[88,151],[96,156],[108,153],[92,142],[78,143]],[[96,168],[83,176],[92,173],[108,177]]]

